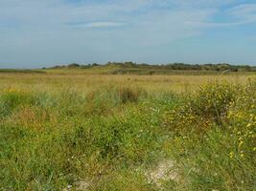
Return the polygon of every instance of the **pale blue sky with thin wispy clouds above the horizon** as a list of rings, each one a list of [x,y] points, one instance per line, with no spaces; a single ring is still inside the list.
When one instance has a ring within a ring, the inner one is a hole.
[[[0,0],[0,68],[256,65],[256,0]]]

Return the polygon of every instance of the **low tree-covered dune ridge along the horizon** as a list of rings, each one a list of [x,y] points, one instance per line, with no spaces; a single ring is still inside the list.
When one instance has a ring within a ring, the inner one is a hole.
[[[68,64],[57,65],[46,70],[87,70],[97,71],[102,74],[220,74],[220,73],[237,73],[237,72],[256,72],[256,67],[249,65],[230,65],[221,64],[137,64],[133,62],[108,62],[104,65],[94,64]]]

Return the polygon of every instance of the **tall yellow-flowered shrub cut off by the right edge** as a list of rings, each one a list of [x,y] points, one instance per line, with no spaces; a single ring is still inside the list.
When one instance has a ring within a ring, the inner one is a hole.
[[[256,83],[247,85],[240,92],[227,115],[226,125],[236,144],[231,155],[253,161],[256,153]]]

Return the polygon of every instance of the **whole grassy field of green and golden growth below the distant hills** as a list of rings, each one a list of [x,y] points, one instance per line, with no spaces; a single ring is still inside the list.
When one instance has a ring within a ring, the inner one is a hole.
[[[255,73],[41,71],[0,73],[0,190],[256,189]]]

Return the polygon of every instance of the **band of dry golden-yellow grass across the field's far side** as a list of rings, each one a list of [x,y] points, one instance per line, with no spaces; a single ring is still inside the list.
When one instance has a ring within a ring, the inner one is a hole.
[[[72,89],[87,93],[111,85],[139,86],[149,92],[183,93],[198,89],[200,84],[215,80],[244,84],[255,74],[229,75],[134,75],[134,74],[0,74],[0,88],[40,91]]]

